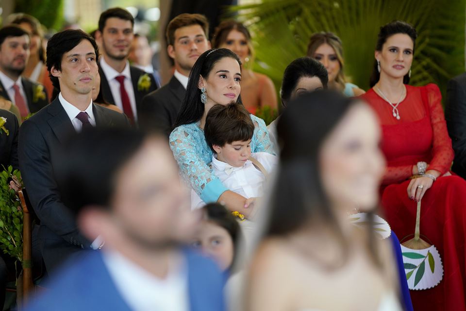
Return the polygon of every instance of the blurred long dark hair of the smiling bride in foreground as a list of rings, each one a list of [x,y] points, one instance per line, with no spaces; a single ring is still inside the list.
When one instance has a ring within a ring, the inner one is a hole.
[[[299,96],[284,110],[277,125],[280,166],[266,236],[285,236],[313,221],[332,229],[347,253],[347,240],[323,189],[319,158],[330,133],[360,101],[338,91],[316,90]],[[369,249],[378,264],[375,233],[372,226],[368,227]]]

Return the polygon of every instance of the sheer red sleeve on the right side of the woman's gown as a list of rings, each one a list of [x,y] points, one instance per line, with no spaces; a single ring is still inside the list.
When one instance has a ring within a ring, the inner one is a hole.
[[[425,86],[425,88],[429,101],[433,129],[432,160],[427,170],[435,170],[443,175],[447,173],[451,167],[454,152],[451,147],[451,139],[448,135],[447,122],[445,121],[445,115],[443,113],[440,90],[438,86],[434,84],[429,84]]]

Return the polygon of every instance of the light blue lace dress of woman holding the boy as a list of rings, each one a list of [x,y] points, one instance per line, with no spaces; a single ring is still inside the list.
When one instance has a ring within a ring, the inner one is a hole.
[[[250,116],[255,127],[251,151],[275,155],[275,146],[268,136],[266,123],[254,115]],[[199,122],[178,126],[171,132],[169,141],[181,175],[202,201],[216,202],[224,191],[229,190],[208,166],[212,161],[212,150],[205,141],[204,131],[200,129]]]

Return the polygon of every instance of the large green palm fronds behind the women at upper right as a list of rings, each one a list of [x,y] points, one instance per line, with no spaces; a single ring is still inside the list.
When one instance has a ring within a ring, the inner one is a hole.
[[[465,0],[263,0],[231,10],[253,33],[254,70],[277,89],[285,67],[306,54],[310,35],[331,31],[342,39],[349,82],[367,90],[380,26],[394,19],[418,33],[410,84],[435,83],[445,91],[465,69]]]

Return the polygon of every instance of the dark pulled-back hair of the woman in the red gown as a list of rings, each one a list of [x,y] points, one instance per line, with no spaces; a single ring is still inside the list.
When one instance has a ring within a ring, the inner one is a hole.
[[[382,52],[383,44],[387,42],[387,39],[390,36],[396,35],[396,34],[404,34],[404,35],[410,36],[411,40],[413,40],[413,55],[414,55],[414,50],[416,48],[416,38],[417,38],[416,29],[413,27],[413,25],[408,24],[407,22],[404,22],[401,20],[394,20],[380,27],[380,32],[377,38],[377,45],[375,47],[375,50]],[[369,80],[370,87],[375,86],[376,83],[379,82],[379,79],[380,79],[380,72],[377,69],[377,60],[375,59],[374,66],[372,68],[372,74]],[[407,73],[404,76],[403,83],[409,84],[409,73]]]

